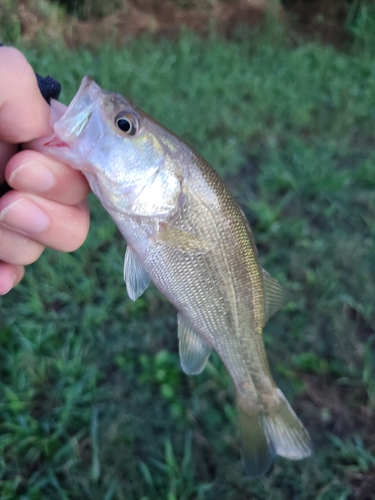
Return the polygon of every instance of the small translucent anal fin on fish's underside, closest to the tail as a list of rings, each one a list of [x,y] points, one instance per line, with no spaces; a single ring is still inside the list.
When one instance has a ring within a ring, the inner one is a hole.
[[[177,323],[181,367],[187,375],[196,375],[206,366],[211,347],[195,333],[181,314],[177,315]]]

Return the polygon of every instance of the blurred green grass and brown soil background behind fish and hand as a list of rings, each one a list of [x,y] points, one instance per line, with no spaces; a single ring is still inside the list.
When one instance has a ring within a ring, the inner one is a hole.
[[[127,298],[90,197],[84,246],[0,297],[0,498],[374,499],[374,2],[0,0],[0,39],[64,103],[89,74],[224,177],[295,298],[264,339],[315,444],[245,477],[229,375],[182,374],[174,309]]]

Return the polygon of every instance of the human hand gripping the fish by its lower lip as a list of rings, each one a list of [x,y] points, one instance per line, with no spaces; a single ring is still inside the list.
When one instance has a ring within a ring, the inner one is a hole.
[[[0,295],[17,285],[24,266],[45,247],[71,252],[89,229],[84,176],[68,165],[18,144],[52,133],[65,106],[40,94],[25,57],[0,47],[0,186],[13,188],[0,198]]]

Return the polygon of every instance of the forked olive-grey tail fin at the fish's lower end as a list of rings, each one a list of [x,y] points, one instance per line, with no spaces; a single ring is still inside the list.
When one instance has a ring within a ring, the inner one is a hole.
[[[268,413],[250,414],[238,398],[238,421],[242,458],[249,476],[261,476],[275,455],[300,460],[312,453],[310,436],[292,410],[284,394],[277,389],[280,403]]]

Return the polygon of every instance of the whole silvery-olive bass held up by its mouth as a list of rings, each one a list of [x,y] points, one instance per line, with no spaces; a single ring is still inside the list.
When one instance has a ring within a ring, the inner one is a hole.
[[[130,299],[152,281],[177,309],[182,370],[198,374],[218,353],[235,386],[246,473],[263,475],[276,455],[311,455],[309,433],[272,378],[262,338],[285,291],[262,268],[250,225],[214,168],[87,76],[53,135],[32,147],[86,176],[126,240]]]

